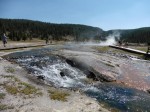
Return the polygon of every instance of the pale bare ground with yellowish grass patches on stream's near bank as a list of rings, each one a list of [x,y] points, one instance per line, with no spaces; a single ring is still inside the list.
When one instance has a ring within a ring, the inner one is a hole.
[[[21,46],[21,44],[19,44],[19,46]],[[10,52],[0,51],[1,56],[8,53]],[[78,91],[73,92],[64,89],[53,88],[45,83],[42,80],[38,80],[32,74],[29,74],[18,64],[9,62],[0,57],[0,111],[108,111],[98,104],[97,101],[79,93]]]

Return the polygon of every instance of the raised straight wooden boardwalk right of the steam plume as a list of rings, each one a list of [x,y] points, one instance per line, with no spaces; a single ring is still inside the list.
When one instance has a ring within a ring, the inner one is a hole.
[[[116,48],[116,49],[121,49],[121,50],[128,51],[128,52],[131,52],[131,53],[150,56],[150,52],[147,53],[147,52],[144,52],[144,51],[140,51],[140,50],[136,50],[136,49],[132,49],[132,48],[127,48],[127,47],[123,47],[123,46],[110,45],[109,47]]]

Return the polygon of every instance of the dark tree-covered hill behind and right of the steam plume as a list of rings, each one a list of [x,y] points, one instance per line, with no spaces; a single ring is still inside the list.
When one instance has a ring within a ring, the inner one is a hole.
[[[115,33],[119,34],[119,38],[116,37],[117,41],[129,43],[150,43],[150,27],[128,30],[109,30],[104,31],[103,36],[107,37],[108,35],[112,35]]]

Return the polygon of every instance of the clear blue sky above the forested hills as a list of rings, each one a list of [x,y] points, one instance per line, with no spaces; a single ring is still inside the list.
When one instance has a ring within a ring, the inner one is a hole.
[[[150,27],[150,0],[0,0],[0,18],[110,29]]]

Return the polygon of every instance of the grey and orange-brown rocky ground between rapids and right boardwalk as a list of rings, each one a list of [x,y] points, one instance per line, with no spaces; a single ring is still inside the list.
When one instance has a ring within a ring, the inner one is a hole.
[[[93,49],[90,49],[93,48]],[[98,80],[116,82],[147,91],[150,89],[150,61],[109,47],[76,46],[54,54],[64,56],[79,69],[89,70]],[[80,66],[82,65],[82,66]]]

